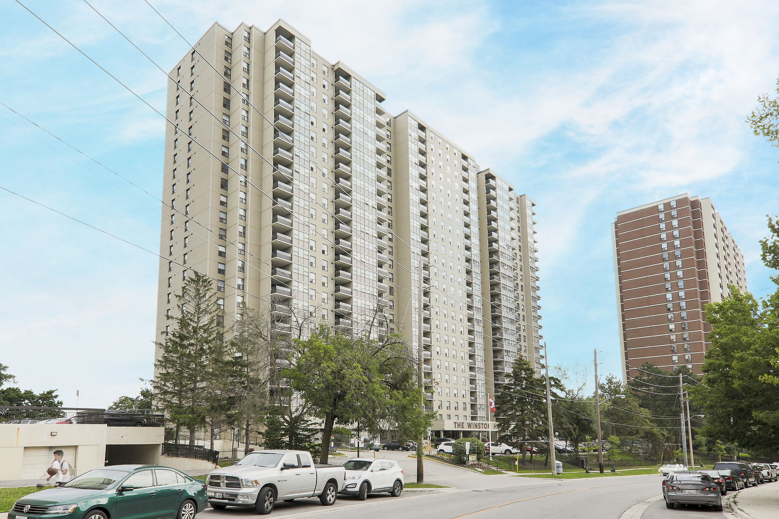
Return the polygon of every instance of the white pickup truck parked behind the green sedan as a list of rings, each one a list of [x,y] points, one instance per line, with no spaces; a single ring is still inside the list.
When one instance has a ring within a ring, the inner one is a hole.
[[[256,450],[232,467],[208,475],[211,508],[255,508],[270,514],[277,501],[319,496],[330,506],[344,489],[346,471],[336,465],[315,465],[305,450]]]

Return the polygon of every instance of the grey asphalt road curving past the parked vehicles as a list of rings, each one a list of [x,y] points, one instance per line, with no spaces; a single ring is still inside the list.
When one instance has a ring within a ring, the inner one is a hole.
[[[372,454],[368,455],[372,457]],[[407,482],[416,478],[416,460],[407,453],[377,453],[377,457],[397,460]],[[407,491],[400,497],[389,494],[369,496],[358,501],[339,496],[332,507],[319,500],[277,503],[273,516],[333,519],[503,519],[538,517],[561,519],[723,519],[712,509],[681,507],[668,510],[661,498],[660,475],[617,478],[539,479],[507,475],[478,475],[465,469],[425,461],[425,482],[452,488],[435,491]],[[205,510],[199,519],[230,519],[256,516],[252,510]]]

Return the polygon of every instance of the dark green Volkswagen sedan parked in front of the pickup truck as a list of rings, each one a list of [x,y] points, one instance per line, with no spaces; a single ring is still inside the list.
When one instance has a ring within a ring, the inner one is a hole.
[[[203,483],[159,465],[96,468],[53,489],[24,496],[9,519],[193,519],[206,508]]]

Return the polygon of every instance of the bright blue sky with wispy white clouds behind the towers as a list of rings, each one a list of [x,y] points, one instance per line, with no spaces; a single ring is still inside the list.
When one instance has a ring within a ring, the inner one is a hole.
[[[218,21],[284,18],[538,203],[552,364],[619,373],[610,225],[619,210],[710,196],[749,288],[777,214],[779,150],[746,115],[779,72],[779,5],[712,2],[152,1],[190,41]],[[150,104],[165,77],[86,3],[24,2]],[[143,0],[90,2],[164,69],[187,45]],[[0,6],[0,102],[159,196],[164,121],[12,0]],[[159,248],[160,205],[0,107],[0,186]],[[0,363],[21,387],[102,407],[152,374],[157,258],[0,190]]]

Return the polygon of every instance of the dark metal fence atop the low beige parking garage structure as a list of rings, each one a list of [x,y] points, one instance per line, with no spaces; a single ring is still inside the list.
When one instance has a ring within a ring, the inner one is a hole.
[[[163,427],[164,415],[149,409],[112,411],[94,408],[40,408],[0,406],[0,425],[4,424],[105,424],[123,427]]]

